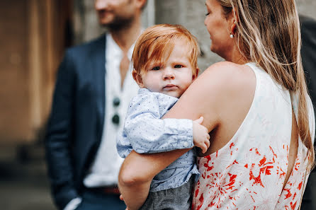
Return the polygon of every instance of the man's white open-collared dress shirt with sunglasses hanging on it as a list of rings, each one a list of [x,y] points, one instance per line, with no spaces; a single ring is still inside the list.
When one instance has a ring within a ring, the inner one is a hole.
[[[134,45],[128,50],[128,59],[132,58]],[[120,78],[120,60],[123,52],[113,40],[111,34],[106,35],[106,115],[104,120],[103,135],[96,159],[91,165],[88,175],[84,178],[86,187],[101,187],[117,185],[118,171],[123,163],[123,158],[116,151],[116,134],[123,127],[128,104],[133,96],[137,95],[139,87],[132,78],[131,63],[125,76],[123,87]],[[120,99],[118,107],[113,106],[114,98]],[[120,124],[112,122],[113,115],[118,114]]]

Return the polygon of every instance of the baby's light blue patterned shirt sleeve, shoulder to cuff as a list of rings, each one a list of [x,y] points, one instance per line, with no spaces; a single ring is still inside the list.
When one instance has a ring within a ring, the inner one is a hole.
[[[169,110],[166,100],[154,94],[140,94],[132,99],[125,119],[121,139],[128,141],[129,148],[137,153],[159,153],[182,148],[192,148],[193,122],[191,119],[160,119]],[[174,101],[169,103],[171,107]],[[129,153],[130,151],[128,151]]]

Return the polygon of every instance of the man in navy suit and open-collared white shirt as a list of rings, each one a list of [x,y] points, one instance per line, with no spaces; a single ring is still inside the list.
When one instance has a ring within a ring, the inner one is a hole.
[[[108,33],[67,50],[60,64],[45,139],[58,209],[125,209],[117,188],[123,162],[115,148],[138,86],[130,58],[146,0],[96,0]]]

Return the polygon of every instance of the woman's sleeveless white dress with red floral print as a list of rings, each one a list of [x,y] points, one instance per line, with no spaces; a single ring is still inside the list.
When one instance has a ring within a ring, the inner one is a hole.
[[[298,156],[285,188],[288,151],[298,100],[253,63],[256,91],[252,105],[228,144],[198,158],[201,177],[192,209],[298,209],[305,190],[307,148],[299,139]],[[307,98],[312,139],[315,117]]]

